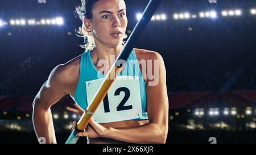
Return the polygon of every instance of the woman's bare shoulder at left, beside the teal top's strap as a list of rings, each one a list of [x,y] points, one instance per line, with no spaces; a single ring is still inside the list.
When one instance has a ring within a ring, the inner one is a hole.
[[[63,88],[70,93],[73,85],[76,85],[79,79],[81,55],[73,58],[65,64],[57,65],[48,78],[48,84]]]

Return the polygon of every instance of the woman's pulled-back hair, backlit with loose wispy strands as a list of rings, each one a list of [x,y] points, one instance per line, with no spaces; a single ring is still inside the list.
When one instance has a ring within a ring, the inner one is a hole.
[[[84,45],[80,45],[81,48],[85,48],[87,50],[92,50],[95,47],[95,42],[93,39],[92,32],[86,31],[84,25],[84,18],[92,19],[93,18],[93,7],[96,2],[100,0],[81,0],[81,5],[76,7],[75,13],[82,20],[82,26],[79,27],[79,30],[76,31],[76,35],[79,37],[84,37]],[[127,35],[125,35],[125,39]],[[125,41],[123,41],[125,44]]]

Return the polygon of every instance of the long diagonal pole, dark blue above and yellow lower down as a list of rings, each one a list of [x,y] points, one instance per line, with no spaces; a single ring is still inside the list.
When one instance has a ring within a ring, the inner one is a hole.
[[[117,76],[119,72],[121,72],[121,66],[117,66],[117,61],[127,60],[139,36],[141,36],[141,33],[143,32],[144,28],[146,28],[148,22],[150,22],[150,19],[154,15],[154,12],[160,5],[161,1],[162,0],[150,0],[150,2],[148,3],[146,9],[143,12],[141,20],[139,20],[133,32],[131,32],[131,35],[127,40],[125,46],[123,47],[121,53],[115,60],[114,65],[110,68],[109,73],[106,75],[104,81],[101,83],[100,89],[98,89],[96,95],[94,95],[90,106],[87,108],[84,114],[82,114],[79,122],[77,122],[76,128],[68,137],[66,144],[67,143],[74,144],[77,142],[77,140],[79,140],[79,137],[76,137],[76,133],[79,131],[83,131],[84,128],[88,125],[90,118],[92,118],[94,112],[97,110],[97,107],[100,105],[101,101],[104,99],[105,95],[108,93],[110,86],[113,84],[115,76]],[[113,78],[113,75],[114,75],[114,78]]]

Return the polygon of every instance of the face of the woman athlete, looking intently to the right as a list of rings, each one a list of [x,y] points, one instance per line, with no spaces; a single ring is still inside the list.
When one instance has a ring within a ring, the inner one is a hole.
[[[94,3],[90,20],[94,40],[110,47],[122,44],[127,27],[126,5],[123,0],[100,0]]]

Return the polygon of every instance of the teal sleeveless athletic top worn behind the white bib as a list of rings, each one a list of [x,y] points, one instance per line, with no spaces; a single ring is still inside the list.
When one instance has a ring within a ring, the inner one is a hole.
[[[129,60],[136,60],[135,63]],[[139,116],[136,119],[131,120],[145,120],[147,117],[147,95],[146,95],[146,83],[142,77],[141,69],[139,68],[139,62],[137,60],[136,53],[133,49],[130,56],[128,57],[125,65],[125,71],[118,74],[118,76],[137,76],[139,77],[139,92],[141,96],[141,107],[142,107],[142,116]],[[100,73],[93,64],[92,58],[90,56],[90,51],[86,51],[81,55],[80,60],[80,76],[79,83],[75,91],[75,97],[73,98],[77,104],[82,109],[88,107],[88,100],[86,97],[86,82],[92,81],[94,79],[99,79],[98,75],[101,75],[99,78],[104,78],[105,74]]]

